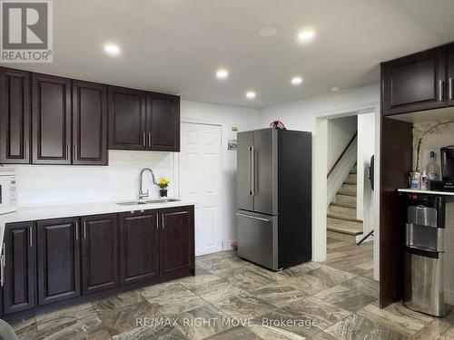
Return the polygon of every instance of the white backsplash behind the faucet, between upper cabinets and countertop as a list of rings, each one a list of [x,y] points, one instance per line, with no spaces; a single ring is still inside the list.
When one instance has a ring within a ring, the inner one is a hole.
[[[168,195],[172,197],[177,157],[173,152],[109,151],[109,165],[104,167],[17,165],[19,204],[136,199],[143,168],[151,168],[158,180],[171,180]],[[158,197],[159,188],[150,174],[145,172],[143,179],[143,189]]]

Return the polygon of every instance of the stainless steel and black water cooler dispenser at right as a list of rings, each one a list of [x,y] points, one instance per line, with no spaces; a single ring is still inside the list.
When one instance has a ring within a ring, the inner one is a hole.
[[[405,194],[404,305],[432,316],[449,312],[445,303],[445,199]]]

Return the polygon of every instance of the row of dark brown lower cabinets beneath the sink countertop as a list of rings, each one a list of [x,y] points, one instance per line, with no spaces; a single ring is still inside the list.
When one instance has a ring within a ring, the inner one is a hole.
[[[7,224],[0,314],[192,275],[193,214],[188,206]]]

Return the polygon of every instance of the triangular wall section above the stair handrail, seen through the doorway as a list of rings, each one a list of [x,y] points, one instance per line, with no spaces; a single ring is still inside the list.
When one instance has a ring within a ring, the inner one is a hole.
[[[328,121],[328,169],[331,169],[341,156],[356,131],[358,131],[356,115]]]

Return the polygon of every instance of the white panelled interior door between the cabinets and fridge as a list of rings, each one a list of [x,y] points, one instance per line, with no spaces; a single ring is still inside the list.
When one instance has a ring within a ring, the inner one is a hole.
[[[195,203],[195,255],[221,251],[221,126],[183,122],[181,147],[181,196]]]

